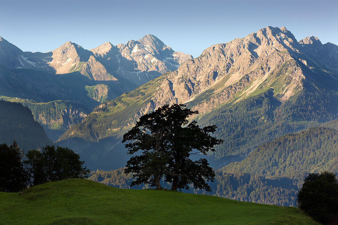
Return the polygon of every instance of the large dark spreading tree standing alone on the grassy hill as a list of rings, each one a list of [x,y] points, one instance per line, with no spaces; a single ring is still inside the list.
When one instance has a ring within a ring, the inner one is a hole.
[[[133,155],[127,161],[125,173],[136,178],[131,185],[148,183],[162,189],[161,178],[172,183],[172,190],[194,188],[210,190],[206,181],[215,173],[207,159],[193,161],[191,155],[206,155],[223,141],[211,134],[216,126],[200,128],[189,117],[198,114],[183,104],[164,105],[143,115],[136,125],[124,134],[122,143]],[[139,152],[142,152],[139,154]]]

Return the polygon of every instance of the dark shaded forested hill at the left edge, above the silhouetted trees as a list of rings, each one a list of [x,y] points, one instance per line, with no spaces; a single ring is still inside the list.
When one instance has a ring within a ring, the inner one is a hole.
[[[28,107],[0,100],[0,143],[14,140],[25,152],[52,144]]]

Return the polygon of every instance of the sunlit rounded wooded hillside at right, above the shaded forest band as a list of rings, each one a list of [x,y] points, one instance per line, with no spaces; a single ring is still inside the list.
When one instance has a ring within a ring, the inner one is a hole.
[[[244,160],[222,170],[301,180],[308,173],[322,170],[338,173],[337,156],[338,131],[313,127],[260,145]]]

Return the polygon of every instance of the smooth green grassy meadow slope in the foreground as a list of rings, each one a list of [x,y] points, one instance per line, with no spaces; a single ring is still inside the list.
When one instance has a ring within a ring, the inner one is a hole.
[[[117,189],[85,179],[0,192],[0,211],[1,224],[317,224],[294,207]]]

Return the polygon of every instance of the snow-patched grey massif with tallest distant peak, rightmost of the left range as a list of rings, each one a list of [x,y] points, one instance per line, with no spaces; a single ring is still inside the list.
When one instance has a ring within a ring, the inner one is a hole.
[[[106,42],[91,51],[111,74],[117,74],[137,86],[174,71],[184,61],[192,59],[191,55],[173,51],[151,34],[117,46]]]

